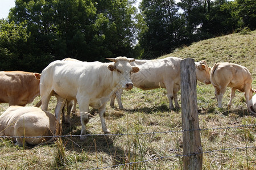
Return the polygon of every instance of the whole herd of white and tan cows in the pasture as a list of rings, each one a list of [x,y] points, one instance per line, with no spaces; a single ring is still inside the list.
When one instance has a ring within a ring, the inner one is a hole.
[[[180,90],[181,58],[133,59],[126,57],[107,58],[111,63],[82,62],[72,58],[53,61],[42,74],[23,71],[0,71],[0,103],[9,103],[10,107],[0,116],[0,134],[6,136],[51,136],[56,133],[60,123],[61,112],[68,103],[67,118],[73,104],[79,104],[81,119],[81,139],[86,139],[85,126],[91,117],[89,107],[98,109],[102,130],[110,133],[106,127],[104,113],[106,103],[114,107],[117,97],[119,109],[122,90],[131,90],[133,86],[143,90],[166,88],[170,109],[179,108],[177,92]],[[196,78],[205,84],[212,83],[218,107],[226,87],[231,87],[231,106],[235,91],[245,93],[248,111],[256,115],[256,95],[251,87],[252,77],[246,67],[234,63],[217,63],[211,69],[205,61],[195,62]],[[36,96],[41,100],[36,107],[25,107]],[[49,99],[57,98],[55,116],[47,112]],[[38,108],[42,104],[41,109]],[[17,138],[16,145],[39,145],[52,141],[53,138]],[[25,142],[25,143],[24,143]]]

